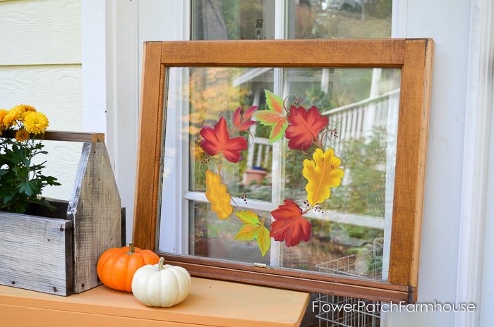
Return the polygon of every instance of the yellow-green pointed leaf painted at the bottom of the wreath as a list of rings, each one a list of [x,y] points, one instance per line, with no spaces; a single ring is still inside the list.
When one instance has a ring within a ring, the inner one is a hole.
[[[264,226],[264,221],[259,221],[258,215],[253,211],[241,211],[235,214],[244,223],[235,240],[251,241],[256,239],[260,253],[265,256],[271,246],[270,231]]]

